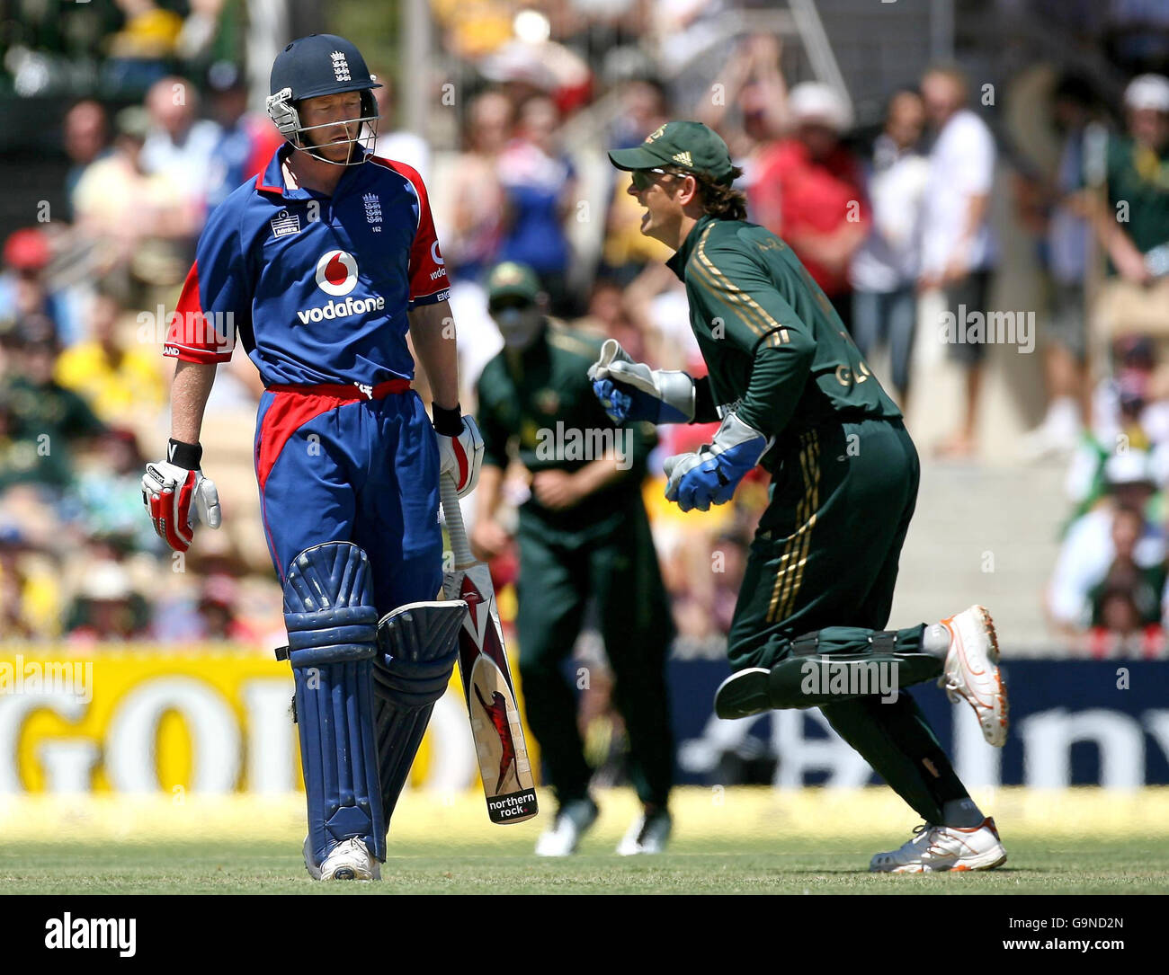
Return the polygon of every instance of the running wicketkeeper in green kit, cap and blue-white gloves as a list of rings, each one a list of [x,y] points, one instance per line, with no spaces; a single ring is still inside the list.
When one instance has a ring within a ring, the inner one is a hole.
[[[667,264],[686,285],[708,376],[650,369],[610,340],[589,370],[597,397],[618,422],[721,420],[710,444],[665,461],[666,497],[684,511],[726,503],[758,464],[773,478],[728,638],[735,673],[718,689],[717,713],[821,708],[925,820],[871,870],[998,866],[1007,854],[994,820],[912,696],[883,703],[862,685],[871,664],[892,668],[900,688],[936,678],[970,704],[987,741],[1007,738],[983,607],[885,628],[920,473],[900,412],[790,248],[746,222],[731,188],[741,170],[714,132],[671,121],[609,159],[632,174],[642,232],[676,251]]]

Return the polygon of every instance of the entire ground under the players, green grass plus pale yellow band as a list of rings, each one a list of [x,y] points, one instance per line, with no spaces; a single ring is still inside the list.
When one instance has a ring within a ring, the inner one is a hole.
[[[407,794],[380,884],[321,885],[300,861],[295,796],[167,801],[0,801],[0,891],[7,893],[1137,893],[1169,892],[1169,789],[975,796],[998,822],[1005,866],[984,873],[874,876],[869,858],[916,820],[887,789],[775,793],[680,789],[660,857],[613,851],[631,793],[566,861],[532,856],[544,817],[487,822],[482,798]],[[551,796],[546,800],[551,812]]]

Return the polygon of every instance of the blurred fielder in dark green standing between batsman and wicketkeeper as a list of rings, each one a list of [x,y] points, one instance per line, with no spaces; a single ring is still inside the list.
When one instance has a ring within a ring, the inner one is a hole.
[[[519,509],[519,671],[558,810],[537,841],[539,856],[569,856],[596,821],[593,775],[561,664],[580,635],[588,600],[613,668],[614,704],[625,723],[629,772],[642,813],[621,855],[659,854],[670,837],[673,738],[665,661],[673,622],[642,500],[653,426],[614,427],[587,378],[601,343],[545,314],[535,272],[505,262],[487,274],[487,311],[504,349],[476,386],[485,445],[471,542],[485,557],[507,544],[498,520],[510,454],[532,474]],[[577,450],[566,438],[588,438]]]

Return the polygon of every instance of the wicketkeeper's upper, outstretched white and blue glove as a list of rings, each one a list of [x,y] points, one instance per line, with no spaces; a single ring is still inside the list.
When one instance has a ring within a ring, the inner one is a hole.
[[[694,418],[694,381],[685,372],[634,362],[615,339],[604,340],[588,377],[614,423],[690,423]]]

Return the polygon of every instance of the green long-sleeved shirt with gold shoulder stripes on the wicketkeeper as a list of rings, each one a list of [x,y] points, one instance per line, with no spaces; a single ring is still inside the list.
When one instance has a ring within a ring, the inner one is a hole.
[[[704,216],[666,264],[686,284],[690,326],[710,372],[698,422],[738,404],[776,444],[839,419],[900,417],[791,249],[766,228]]]

